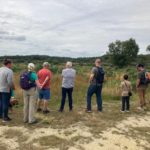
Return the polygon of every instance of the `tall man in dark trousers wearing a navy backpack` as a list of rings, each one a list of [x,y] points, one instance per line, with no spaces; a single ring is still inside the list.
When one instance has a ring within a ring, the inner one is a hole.
[[[97,110],[102,112],[102,86],[104,81],[104,70],[101,66],[101,59],[96,59],[95,67],[93,67],[90,75],[90,85],[87,91],[87,112],[92,112],[91,98],[96,94]]]

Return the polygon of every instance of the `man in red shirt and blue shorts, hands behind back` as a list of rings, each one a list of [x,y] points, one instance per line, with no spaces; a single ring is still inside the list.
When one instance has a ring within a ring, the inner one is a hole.
[[[48,102],[50,100],[50,83],[52,79],[52,72],[49,70],[50,64],[48,62],[43,63],[43,68],[38,71],[38,80],[41,84],[41,89],[39,90],[39,100],[37,111],[42,111],[41,101],[43,101],[43,113],[49,113]]]

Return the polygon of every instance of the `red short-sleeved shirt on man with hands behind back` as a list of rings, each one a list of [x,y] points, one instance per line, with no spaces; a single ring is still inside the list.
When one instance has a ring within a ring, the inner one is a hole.
[[[51,81],[51,78],[52,78],[52,72],[48,69],[45,69],[45,68],[39,70],[38,80],[39,80],[40,84],[43,84],[47,77],[48,77],[48,81],[44,85],[43,89],[49,89],[50,88],[50,81]]]

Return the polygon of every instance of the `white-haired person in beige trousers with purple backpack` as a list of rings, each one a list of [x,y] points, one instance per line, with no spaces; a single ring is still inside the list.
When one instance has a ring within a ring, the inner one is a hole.
[[[20,86],[23,89],[24,98],[24,123],[29,124],[37,122],[34,116],[38,98],[37,86],[41,88],[34,69],[35,65],[29,63],[28,70],[23,72],[20,76]]]

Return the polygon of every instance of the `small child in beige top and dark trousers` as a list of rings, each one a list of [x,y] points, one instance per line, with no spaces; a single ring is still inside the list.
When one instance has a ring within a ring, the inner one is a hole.
[[[128,75],[123,76],[123,81],[121,82],[121,95],[122,95],[122,108],[121,112],[130,111],[130,97],[132,96],[131,82],[128,81]]]

